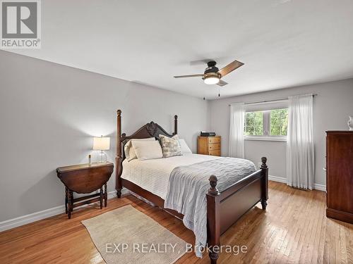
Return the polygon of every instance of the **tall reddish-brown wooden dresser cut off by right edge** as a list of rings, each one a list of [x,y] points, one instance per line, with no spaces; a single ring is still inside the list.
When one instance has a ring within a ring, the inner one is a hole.
[[[326,134],[326,216],[353,223],[353,131]]]

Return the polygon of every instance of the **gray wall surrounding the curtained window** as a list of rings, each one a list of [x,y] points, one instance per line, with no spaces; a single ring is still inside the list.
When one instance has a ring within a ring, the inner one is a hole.
[[[318,94],[313,100],[315,182],[325,184],[325,131],[348,129],[348,116],[353,115],[353,79],[210,101],[210,128],[222,136],[222,156],[228,154],[229,103],[281,99],[290,95],[311,93]],[[270,175],[286,177],[286,142],[246,140],[245,157],[258,165],[261,156],[268,157]]]

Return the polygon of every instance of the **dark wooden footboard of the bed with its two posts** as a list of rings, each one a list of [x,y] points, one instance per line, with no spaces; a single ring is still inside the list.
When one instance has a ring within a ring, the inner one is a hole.
[[[253,172],[239,182],[219,191],[217,177],[210,177],[207,196],[208,246],[211,263],[217,263],[220,253],[220,236],[237,222],[241,215],[261,201],[263,210],[268,200],[267,158],[261,158],[261,170]]]

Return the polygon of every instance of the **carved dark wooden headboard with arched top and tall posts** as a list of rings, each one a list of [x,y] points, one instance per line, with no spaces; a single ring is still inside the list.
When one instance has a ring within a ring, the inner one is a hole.
[[[126,136],[125,133],[121,134],[121,110],[117,112],[116,120],[116,187],[121,184],[120,176],[123,171],[122,162],[125,158],[124,146],[129,139],[145,139],[148,137],[160,138],[160,134],[164,134],[167,137],[172,137],[174,134],[178,133],[178,115],[174,115],[174,132],[169,134],[160,125],[155,122],[149,122],[146,125],[140,127],[135,133],[130,136]],[[116,188],[117,189],[117,188]]]

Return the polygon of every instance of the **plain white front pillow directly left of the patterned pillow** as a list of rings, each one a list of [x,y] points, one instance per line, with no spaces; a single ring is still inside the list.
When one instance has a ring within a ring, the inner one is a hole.
[[[138,161],[152,160],[153,158],[163,158],[160,142],[155,141],[133,141]]]

